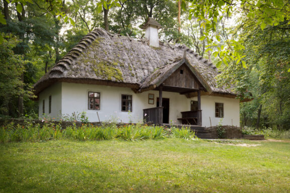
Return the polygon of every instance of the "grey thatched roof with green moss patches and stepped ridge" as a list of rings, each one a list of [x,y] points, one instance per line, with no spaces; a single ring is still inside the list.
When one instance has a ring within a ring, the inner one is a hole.
[[[86,35],[35,83],[34,89],[38,94],[52,83],[64,81],[125,86],[142,91],[154,84],[149,76],[168,73],[172,67],[180,65],[178,58],[185,61],[207,91],[234,94],[229,89],[216,87],[214,77],[218,69],[186,46],[160,42],[160,48],[154,48],[143,39],[110,34],[102,28]]]

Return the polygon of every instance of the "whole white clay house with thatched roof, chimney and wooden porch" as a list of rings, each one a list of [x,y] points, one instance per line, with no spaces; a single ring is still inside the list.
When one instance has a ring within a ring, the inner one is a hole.
[[[218,69],[184,45],[160,42],[160,27],[150,18],[138,40],[102,28],[86,35],[34,85],[39,117],[239,126],[240,101],[216,86]]]

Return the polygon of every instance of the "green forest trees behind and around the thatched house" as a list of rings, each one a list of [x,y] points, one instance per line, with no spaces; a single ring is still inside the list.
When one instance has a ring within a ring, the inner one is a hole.
[[[32,85],[97,27],[140,38],[148,17],[161,41],[185,44],[234,85],[241,125],[290,129],[290,2],[285,0],[2,0],[0,118],[38,115]]]

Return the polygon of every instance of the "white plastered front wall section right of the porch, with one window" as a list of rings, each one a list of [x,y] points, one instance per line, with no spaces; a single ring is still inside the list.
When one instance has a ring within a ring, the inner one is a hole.
[[[197,97],[191,98],[192,101],[197,101]],[[210,127],[219,124],[222,119],[222,125],[234,125],[240,127],[240,101],[221,96],[201,96],[202,110],[202,126]],[[215,103],[224,104],[224,118],[215,117]],[[210,117],[210,121],[209,121]]]

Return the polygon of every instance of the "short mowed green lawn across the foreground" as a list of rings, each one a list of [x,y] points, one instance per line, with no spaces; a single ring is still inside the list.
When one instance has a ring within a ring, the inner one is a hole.
[[[0,144],[0,192],[289,192],[290,142]],[[239,143],[234,143],[235,145]]]

